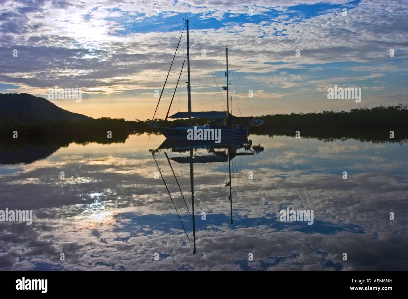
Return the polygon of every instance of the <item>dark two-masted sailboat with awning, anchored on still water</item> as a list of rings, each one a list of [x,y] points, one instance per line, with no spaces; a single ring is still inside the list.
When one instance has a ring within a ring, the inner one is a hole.
[[[189,49],[189,37],[188,37],[188,23],[189,20],[186,19],[185,27],[186,27],[186,33],[187,33],[187,77],[188,77],[188,82],[187,82],[187,100],[188,100],[188,111],[187,112],[177,112],[171,116],[169,116],[169,111],[171,107],[171,103],[173,102],[173,99],[171,100],[169,110],[166,115],[167,118],[170,119],[186,119],[188,118],[188,125],[172,125],[172,126],[158,126],[156,125],[155,127],[166,137],[166,139],[188,139],[189,138],[189,133],[193,132],[194,129],[194,140],[207,140],[207,136],[209,140],[214,139],[214,132],[215,134],[220,135],[220,139],[229,139],[229,138],[238,138],[238,137],[246,137],[248,136],[248,131],[251,128],[252,125],[259,126],[263,123],[262,120],[260,119],[255,119],[254,117],[235,117],[230,113],[230,105],[229,105],[229,86],[231,83],[228,81],[228,47],[225,47],[226,49],[226,86],[223,86],[223,89],[226,90],[226,96],[227,96],[227,111],[201,111],[201,112],[193,112],[191,111],[191,82],[190,82],[190,49]],[[183,29],[184,31],[184,29]],[[182,33],[183,34],[183,33]],[[180,36],[181,40],[181,36]],[[179,44],[180,44],[179,40]],[[178,45],[177,45],[178,48]],[[177,49],[176,49],[177,53]],[[175,54],[176,54],[175,53]],[[174,54],[174,56],[175,56]],[[184,59],[184,62],[185,62]],[[174,57],[173,57],[174,61]],[[183,62],[183,67],[184,67],[184,62]],[[173,64],[173,62],[172,62]],[[183,68],[182,67],[182,68]],[[171,66],[170,66],[171,69]],[[169,70],[170,73],[170,70]],[[167,74],[168,78],[169,74]],[[181,76],[181,72],[180,72]],[[179,81],[180,81],[180,76],[179,76]],[[167,81],[166,78],[166,81]],[[164,83],[164,85],[166,82]],[[177,81],[178,85],[178,81]],[[177,88],[176,85],[176,88]],[[164,89],[164,87],[163,87]],[[163,90],[162,90],[163,93]],[[174,93],[173,93],[173,98],[174,98]],[[159,103],[160,103],[161,95],[159,98]],[[157,107],[159,105],[157,103]],[[156,111],[157,111],[156,107]],[[156,114],[155,111],[155,114]],[[212,121],[208,121],[205,125],[194,125],[193,126],[193,121],[192,118],[195,119],[212,119]],[[154,119],[154,116],[153,116]],[[235,121],[244,121],[244,124],[242,123],[235,123]],[[217,124],[218,123],[218,124]],[[221,124],[220,124],[221,123]],[[203,139],[200,139],[200,136],[197,138],[196,132],[204,132],[204,137],[201,137]],[[191,135],[190,135],[191,136]]]

